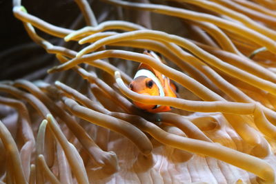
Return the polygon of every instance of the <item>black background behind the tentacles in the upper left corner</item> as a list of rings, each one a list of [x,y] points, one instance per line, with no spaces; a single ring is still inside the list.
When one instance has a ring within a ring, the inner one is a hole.
[[[97,4],[99,3],[97,1]],[[28,13],[63,28],[70,28],[72,23],[81,16],[77,4],[72,0],[23,0],[21,4]],[[97,6],[103,6],[103,4]],[[57,62],[55,56],[46,53],[30,39],[22,22],[12,13],[11,0],[0,0],[0,23],[0,80],[30,79],[33,76],[29,75],[33,72],[37,72],[34,78],[43,78],[47,74],[46,70]],[[83,25],[84,21],[81,17],[79,28]],[[36,31],[40,37],[51,43],[56,45],[63,43],[62,39],[52,37],[37,29]]]

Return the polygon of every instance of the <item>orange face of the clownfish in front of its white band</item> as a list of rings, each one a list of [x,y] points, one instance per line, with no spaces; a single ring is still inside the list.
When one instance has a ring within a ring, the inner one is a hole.
[[[135,80],[130,83],[129,88],[139,94],[159,96],[159,88],[157,84],[155,81],[146,76],[139,76],[135,78]],[[142,110],[151,110],[156,108],[156,105],[146,105],[136,101],[133,101],[133,103]]]

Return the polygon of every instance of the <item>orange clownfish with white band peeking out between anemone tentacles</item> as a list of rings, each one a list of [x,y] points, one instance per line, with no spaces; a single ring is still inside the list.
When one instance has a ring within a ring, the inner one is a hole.
[[[155,52],[145,51],[144,54],[162,62]],[[176,85],[172,83],[167,76],[164,76],[164,74],[161,74],[144,63],[139,65],[137,73],[130,83],[129,88],[134,92],[144,95],[177,97]],[[133,101],[133,103],[141,110],[146,110],[148,112],[166,112],[171,110],[170,106],[166,105],[146,105],[136,101]]]

